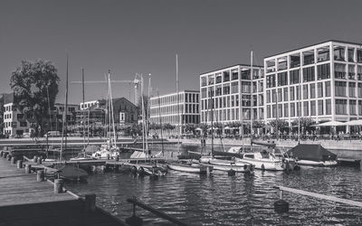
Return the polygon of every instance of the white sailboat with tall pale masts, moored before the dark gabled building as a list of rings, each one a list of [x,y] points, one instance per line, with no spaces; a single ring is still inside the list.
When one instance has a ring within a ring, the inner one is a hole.
[[[100,150],[93,153],[91,156],[98,159],[116,159],[119,157],[119,147],[117,146],[116,139],[116,127],[114,123],[114,111],[113,111],[113,101],[112,101],[112,89],[110,84],[110,71],[108,73],[108,78],[106,77],[108,84],[108,93],[107,93],[107,104],[106,104],[106,127],[107,127],[107,139],[105,144],[100,146]],[[112,129],[110,128],[110,124]],[[111,137],[113,134],[113,137]]]

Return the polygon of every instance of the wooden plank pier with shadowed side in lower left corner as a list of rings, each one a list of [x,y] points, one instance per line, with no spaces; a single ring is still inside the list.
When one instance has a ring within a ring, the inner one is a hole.
[[[37,181],[0,158],[0,225],[126,225],[95,206],[95,195],[81,198],[51,181]]]

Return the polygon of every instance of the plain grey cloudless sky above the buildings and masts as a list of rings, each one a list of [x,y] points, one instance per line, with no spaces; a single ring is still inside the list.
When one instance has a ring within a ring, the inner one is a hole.
[[[1,0],[0,93],[10,92],[12,71],[22,60],[49,60],[65,92],[69,80],[133,80],[151,74],[152,95],[179,87],[199,89],[199,74],[254,63],[328,40],[362,42],[360,1],[335,0]],[[112,85],[113,98],[133,101],[128,83]],[[85,99],[106,97],[104,84],[88,84]],[[70,103],[81,102],[81,85],[70,84]]]

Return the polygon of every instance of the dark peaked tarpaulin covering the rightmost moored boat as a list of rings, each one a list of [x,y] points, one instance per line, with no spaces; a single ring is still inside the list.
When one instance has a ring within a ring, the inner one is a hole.
[[[300,144],[291,148],[287,154],[298,157],[300,160],[327,161],[337,159],[337,155],[329,152],[321,145]]]

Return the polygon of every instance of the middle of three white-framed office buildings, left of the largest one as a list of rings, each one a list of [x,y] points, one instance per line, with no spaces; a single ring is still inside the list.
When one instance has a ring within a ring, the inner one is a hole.
[[[262,66],[238,64],[200,74],[201,123],[211,124],[212,112],[214,122],[224,125],[263,119],[263,90]]]

